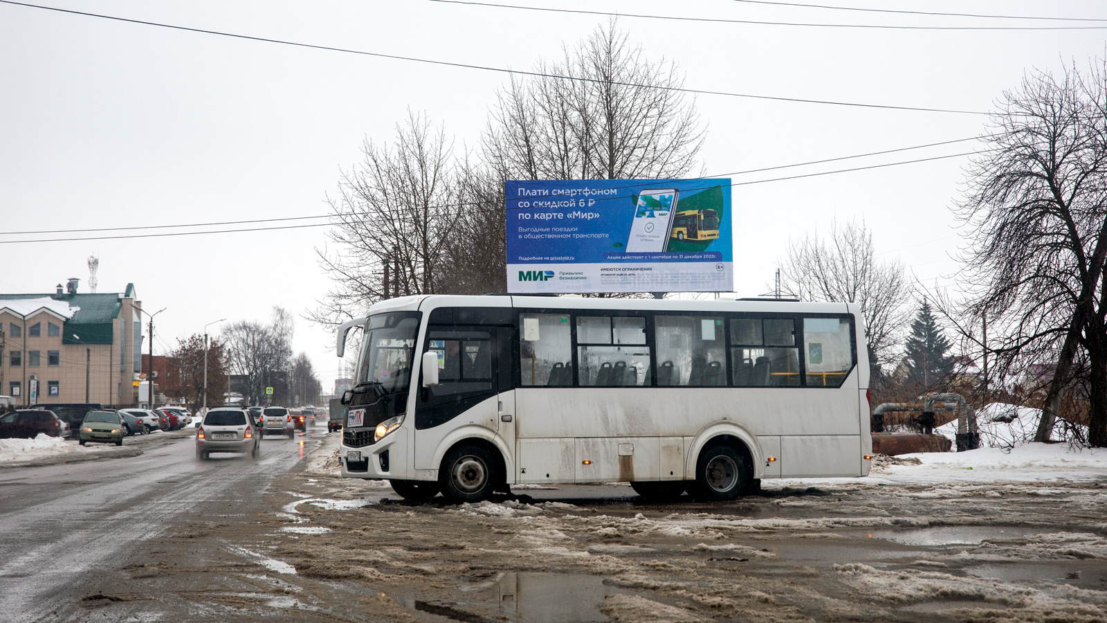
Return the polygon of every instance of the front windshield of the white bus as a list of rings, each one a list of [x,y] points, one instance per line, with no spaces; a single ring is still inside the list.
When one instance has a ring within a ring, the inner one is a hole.
[[[411,384],[418,321],[417,312],[370,316],[354,385],[375,386],[376,395],[405,391]]]

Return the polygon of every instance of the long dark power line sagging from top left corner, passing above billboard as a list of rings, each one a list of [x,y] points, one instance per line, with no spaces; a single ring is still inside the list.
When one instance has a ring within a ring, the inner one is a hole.
[[[707,91],[707,90],[702,90],[702,89],[685,89],[683,86],[659,86],[656,84],[638,84],[638,83],[633,83],[633,82],[614,82],[614,81],[608,81],[608,80],[596,80],[596,79],[591,79],[591,78],[579,78],[579,76],[573,76],[573,75],[560,75],[560,74],[556,74],[556,73],[542,73],[542,72],[538,72],[538,71],[523,71],[523,70],[504,69],[504,68],[495,68],[495,67],[487,67],[487,65],[476,65],[476,64],[469,64],[469,63],[457,63],[457,62],[449,62],[449,61],[439,61],[439,60],[434,60],[434,59],[420,59],[420,58],[416,58],[416,57],[401,57],[401,55],[397,55],[397,54],[384,54],[384,53],[381,53],[381,52],[365,52],[363,50],[352,50],[352,49],[348,49],[348,48],[334,48],[334,47],[331,47],[331,45],[315,45],[315,44],[312,44],[312,43],[300,43],[300,42],[296,42],[296,41],[286,41],[286,40],[282,40],[282,39],[269,39],[269,38],[265,38],[265,37],[251,37],[251,35],[248,35],[248,34],[237,34],[237,33],[232,33],[232,32],[223,32],[223,31],[218,31],[218,30],[207,30],[207,29],[201,29],[201,28],[189,28],[189,27],[175,25],[175,24],[168,24],[168,23],[162,23],[162,22],[152,22],[152,21],[144,21],[144,20],[135,20],[135,19],[130,19],[130,18],[120,18],[120,17],[115,17],[115,16],[105,16],[105,14],[102,14],[102,13],[89,13],[89,12],[85,12],[85,11],[74,11],[72,9],[59,9],[56,7],[43,7],[41,4],[29,4],[27,2],[15,2],[14,0],[0,0],[0,3],[12,4],[12,6],[17,6],[17,7],[28,7],[28,8],[31,8],[31,9],[42,9],[42,10],[45,10],[45,11],[56,11],[59,13],[70,13],[70,14],[74,14],[74,16],[84,16],[84,17],[90,17],[90,18],[100,18],[100,19],[105,19],[105,20],[115,20],[115,21],[127,22],[127,23],[136,23],[136,24],[143,24],[143,25],[153,25],[153,27],[157,27],[157,28],[168,28],[168,29],[182,30],[182,31],[186,31],[186,32],[199,32],[199,33],[204,33],[204,34],[218,34],[220,37],[230,37],[230,38],[234,38],[234,39],[244,39],[244,40],[247,40],[247,41],[262,41],[262,42],[266,42],[266,43],[279,43],[281,45],[294,45],[294,47],[298,47],[298,48],[308,48],[308,49],[312,49],[312,50],[327,50],[327,51],[330,51],[330,52],[344,52],[344,53],[348,53],[348,54],[361,54],[361,55],[364,55],[364,57],[375,57],[375,58],[380,58],[380,59],[392,59],[392,60],[399,60],[399,61],[410,61],[410,62],[416,62],[416,63],[426,63],[426,64],[435,64],[435,65],[444,65],[444,67],[453,67],[453,68],[475,69],[475,70],[480,70],[480,71],[495,71],[495,72],[501,72],[501,73],[509,73],[509,74],[514,74],[514,75],[531,75],[531,76],[536,76],[536,78],[552,78],[552,79],[557,79],[557,80],[571,80],[571,81],[576,81],[576,82],[590,82],[590,83],[598,83],[598,84],[614,84],[614,85],[618,85],[618,86],[631,86],[631,88],[634,88],[634,89],[656,89],[656,90],[660,90],[660,91],[673,91],[673,92],[679,92],[679,93],[695,93],[695,94],[702,94],[702,95],[724,95],[724,96],[728,96],[728,98],[745,98],[745,99],[753,99],[753,100],[769,100],[769,101],[775,101],[775,102],[797,102],[797,103],[805,103],[805,104],[826,104],[826,105],[836,105],[836,106],[855,106],[855,108],[865,108],[865,109],[902,110],[902,111],[918,111],[918,112],[942,112],[942,113],[952,113],[952,114],[987,114],[986,112],[981,112],[981,111],[964,111],[964,110],[954,110],[954,109],[930,109],[930,108],[919,108],[919,106],[894,106],[894,105],[889,105],[889,104],[865,104],[865,103],[859,103],[859,102],[838,102],[838,101],[831,101],[831,100],[810,100],[810,99],[804,99],[804,98],[783,98],[783,96],[774,96],[774,95],[754,95],[754,94],[751,94],[751,93],[734,93],[734,92],[728,92],[728,91]]]

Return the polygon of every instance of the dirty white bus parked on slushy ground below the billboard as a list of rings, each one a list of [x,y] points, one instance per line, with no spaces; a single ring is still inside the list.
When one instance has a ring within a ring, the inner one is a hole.
[[[343,325],[340,357],[354,326],[342,476],[408,499],[629,481],[730,500],[764,478],[869,473],[852,304],[410,296]]]

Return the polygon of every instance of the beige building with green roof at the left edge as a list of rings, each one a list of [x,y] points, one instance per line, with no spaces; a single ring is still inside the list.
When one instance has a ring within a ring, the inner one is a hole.
[[[54,294],[0,294],[0,394],[15,405],[137,404],[143,335],[134,285],[122,294],[76,289],[70,279]]]

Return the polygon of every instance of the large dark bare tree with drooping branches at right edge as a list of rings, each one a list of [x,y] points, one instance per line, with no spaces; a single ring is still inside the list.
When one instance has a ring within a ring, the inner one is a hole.
[[[1036,72],[1004,93],[959,216],[969,312],[1002,328],[1000,361],[1055,361],[1035,440],[1046,441],[1084,349],[1089,442],[1107,446],[1107,71]]]

